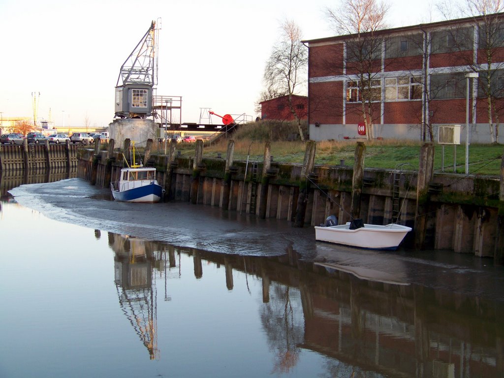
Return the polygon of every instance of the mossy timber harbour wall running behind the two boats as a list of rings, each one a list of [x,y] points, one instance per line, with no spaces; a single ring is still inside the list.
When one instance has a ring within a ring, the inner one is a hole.
[[[108,150],[79,149],[78,177],[101,187],[118,179],[123,157],[113,149],[113,140],[111,144]],[[314,165],[303,173],[303,164],[268,158],[265,166],[262,161],[233,160],[232,156],[229,160],[229,153],[226,158],[187,158],[171,147],[168,155],[149,151],[144,160],[157,168],[165,202],[216,206],[293,224],[302,209],[301,226],[305,227],[320,225],[332,214],[340,224],[352,219],[354,167]],[[421,227],[421,233],[408,233],[402,244],[405,248],[416,247],[415,237],[421,235],[420,249],[447,249],[500,262],[500,181],[499,177],[433,173],[426,179],[425,190],[418,193],[417,171],[364,168],[357,181],[358,214],[365,223]]]

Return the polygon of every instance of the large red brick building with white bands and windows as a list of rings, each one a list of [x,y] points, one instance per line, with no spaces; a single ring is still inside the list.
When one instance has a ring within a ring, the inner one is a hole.
[[[428,141],[439,125],[460,124],[464,141],[466,114],[470,142],[504,131],[496,125],[504,119],[503,13],[303,43],[312,140]]]

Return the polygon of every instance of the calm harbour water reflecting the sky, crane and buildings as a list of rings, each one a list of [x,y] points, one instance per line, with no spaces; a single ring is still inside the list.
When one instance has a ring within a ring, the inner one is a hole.
[[[29,201],[3,186],[1,377],[504,376],[504,270],[491,260],[358,251],[275,222],[266,228],[286,247],[254,239],[250,255],[237,226],[221,240],[239,254],[212,250],[202,225],[207,250],[191,246],[198,232],[154,241],[173,237],[169,223],[146,240],[145,228],[110,231],[124,223],[101,214],[124,209],[100,191],[69,197],[72,212],[55,200],[79,185],[29,187]],[[219,214],[205,223],[222,233],[231,226]]]

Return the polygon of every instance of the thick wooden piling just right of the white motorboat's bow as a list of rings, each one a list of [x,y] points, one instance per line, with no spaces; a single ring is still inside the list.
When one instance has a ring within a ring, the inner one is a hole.
[[[434,145],[424,143],[420,150],[420,162],[418,167],[418,182],[416,188],[416,212],[415,212],[415,248],[423,249],[425,246],[425,234],[427,228],[427,216],[429,182],[434,174]]]

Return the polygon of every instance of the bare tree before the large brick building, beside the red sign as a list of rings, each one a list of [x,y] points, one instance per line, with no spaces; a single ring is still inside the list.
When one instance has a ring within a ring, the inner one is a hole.
[[[340,8],[325,10],[331,28],[338,34],[354,35],[346,42],[346,97],[348,102],[360,102],[360,107],[348,107],[362,116],[368,140],[373,138],[372,125],[381,117],[382,46],[389,6],[376,0],[343,0]]]

